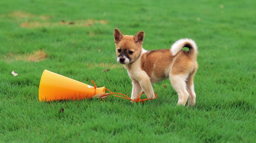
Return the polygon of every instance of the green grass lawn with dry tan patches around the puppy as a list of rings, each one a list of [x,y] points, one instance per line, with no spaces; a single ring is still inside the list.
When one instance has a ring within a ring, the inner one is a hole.
[[[256,142],[255,5],[0,1],[0,142]],[[168,80],[153,84],[158,98],[144,104],[111,95],[103,101],[39,102],[44,69],[130,96],[131,80],[116,62],[114,28],[126,35],[143,30],[146,50],[194,39],[196,105],[177,106]],[[33,61],[35,52],[46,59]]]

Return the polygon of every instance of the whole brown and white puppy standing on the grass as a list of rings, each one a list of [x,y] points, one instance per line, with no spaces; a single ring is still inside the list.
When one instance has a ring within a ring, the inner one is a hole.
[[[132,96],[136,99],[144,90],[147,98],[155,98],[152,83],[169,78],[178,93],[178,104],[194,106],[193,77],[197,70],[197,45],[191,39],[176,41],[171,49],[145,50],[142,48],[144,32],[135,36],[114,30],[117,61],[123,64],[132,80]],[[183,47],[189,51],[181,50]]]

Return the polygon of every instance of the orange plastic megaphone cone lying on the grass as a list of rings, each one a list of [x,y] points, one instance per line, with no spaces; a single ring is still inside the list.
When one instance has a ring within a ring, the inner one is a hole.
[[[94,88],[91,85],[44,70],[39,85],[39,101],[81,100],[100,98],[105,94],[105,87]],[[106,98],[108,96],[103,96]]]

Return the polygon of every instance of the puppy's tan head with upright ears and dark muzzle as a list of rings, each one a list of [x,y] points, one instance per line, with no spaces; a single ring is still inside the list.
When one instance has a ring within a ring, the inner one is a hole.
[[[120,64],[129,64],[138,59],[142,51],[144,31],[135,36],[123,35],[120,30],[114,30],[115,50]]]

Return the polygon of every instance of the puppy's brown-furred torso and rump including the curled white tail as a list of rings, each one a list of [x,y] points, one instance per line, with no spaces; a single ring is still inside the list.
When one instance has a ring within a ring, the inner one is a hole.
[[[188,47],[189,51],[181,50]],[[169,77],[169,74],[189,74],[197,69],[197,46],[191,39],[176,41],[171,50],[159,49],[145,52],[141,57],[141,69],[151,78],[151,83]]]

